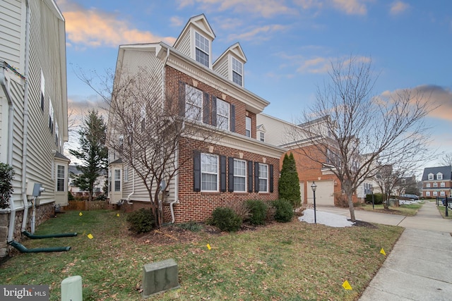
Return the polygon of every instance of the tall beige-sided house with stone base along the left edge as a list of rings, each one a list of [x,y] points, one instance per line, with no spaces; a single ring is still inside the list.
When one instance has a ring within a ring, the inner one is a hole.
[[[54,0],[2,0],[0,11],[0,161],[16,171],[10,208],[0,211],[4,257],[6,241],[30,230],[35,184],[44,188],[35,226],[67,203],[69,159],[64,17]]]

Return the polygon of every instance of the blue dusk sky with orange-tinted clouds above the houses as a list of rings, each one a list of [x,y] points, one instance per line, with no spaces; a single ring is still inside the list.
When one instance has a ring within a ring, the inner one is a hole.
[[[452,152],[452,1],[380,0],[57,0],[66,18],[69,107],[100,100],[73,69],[114,70],[120,44],[166,42],[189,18],[206,15],[212,61],[239,42],[244,84],[293,121],[316,99],[332,61],[370,60],[374,94],[420,89],[439,106],[427,118],[432,150]],[[436,164],[435,158],[427,162]],[[427,167],[427,166],[425,166]]]

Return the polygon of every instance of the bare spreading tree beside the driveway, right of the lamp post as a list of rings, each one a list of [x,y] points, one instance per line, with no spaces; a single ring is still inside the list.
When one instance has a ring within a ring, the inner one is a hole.
[[[374,97],[369,60],[351,56],[331,67],[331,82],[318,88],[292,140],[299,141],[304,156],[338,177],[355,221],[352,195],[364,180],[376,176],[380,166],[420,160],[426,152],[429,106],[415,90]]]

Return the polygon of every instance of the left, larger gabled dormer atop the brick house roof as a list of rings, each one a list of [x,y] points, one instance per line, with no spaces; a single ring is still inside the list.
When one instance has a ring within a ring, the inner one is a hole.
[[[189,22],[186,23],[184,30],[174,42],[174,49],[207,68],[211,68],[213,39],[215,39],[215,34],[206,16],[201,14],[190,18]]]

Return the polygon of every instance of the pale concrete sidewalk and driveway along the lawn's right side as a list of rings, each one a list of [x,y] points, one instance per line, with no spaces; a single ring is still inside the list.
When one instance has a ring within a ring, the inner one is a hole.
[[[348,209],[318,210],[350,217]],[[443,219],[434,202],[424,203],[416,216],[361,210],[355,216],[405,228],[360,301],[452,300],[452,220]]]

